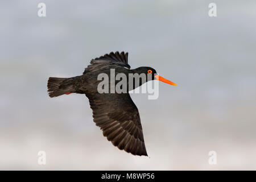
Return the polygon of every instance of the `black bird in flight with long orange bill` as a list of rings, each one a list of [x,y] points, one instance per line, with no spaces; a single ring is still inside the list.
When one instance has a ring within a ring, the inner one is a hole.
[[[125,150],[133,155],[147,156],[139,111],[131,100],[130,94],[99,93],[97,90],[97,85],[101,82],[97,76],[100,73],[110,75],[110,69],[115,69],[115,75],[117,73],[125,73],[125,75],[129,73],[151,74],[151,80],[155,79],[176,85],[159,75],[155,76],[156,71],[151,67],[130,69],[127,52],[110,52],[90,61],[90,65],[85,68],[81,76],[49,77],[47,84],[49,97],[70,93],[85,94],[89,98],[90,107],[93,110],[93,121],[101,128],[103,135],[120,150]],[[135,80],[134,83],[129,90],[144,84],[141,79]]]

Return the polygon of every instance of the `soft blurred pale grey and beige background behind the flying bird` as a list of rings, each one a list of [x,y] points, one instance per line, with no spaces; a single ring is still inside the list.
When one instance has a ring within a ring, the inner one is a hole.
[[[255,170],[256,2],[215,0],[210,18],[211,2],[1,1],[0,169]],[[111,51],[177,84],[131,95],[149,157],[106,140],[84,95],[48,97],[48,77]]]

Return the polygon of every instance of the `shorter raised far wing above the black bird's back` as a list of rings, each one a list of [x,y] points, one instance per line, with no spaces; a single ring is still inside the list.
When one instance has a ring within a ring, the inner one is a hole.
[[[90,65],[85,68],[84,73],[90,71],[98,71],[98,69],[102,68],[111,68],[113,65],[119,65],[121,67],[126,67],[130,69],[130,65],[128,64],[128,52],[110,52],[101,57],[97,57],[90,61]]]

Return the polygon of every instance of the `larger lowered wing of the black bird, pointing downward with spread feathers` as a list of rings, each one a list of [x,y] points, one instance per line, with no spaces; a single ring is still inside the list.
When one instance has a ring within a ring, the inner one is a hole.
[[[86,96],[93,110],[93,121],[114,146],[133,155],[147,156],[139,111],[129,93]]]

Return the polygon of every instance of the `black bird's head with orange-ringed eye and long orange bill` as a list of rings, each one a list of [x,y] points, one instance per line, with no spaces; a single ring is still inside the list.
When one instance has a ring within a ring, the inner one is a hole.
[[[165,82],[166,84],[170,84],[170,85],[174,85],[176,86],[176,84],[170,80],[167,80],[166,78],[158,75],[158,73],[155,71],[154,68],[151,68],[151,67],[139,67],[136,69],[137,73],[138,74],[141,74],[141,73],[144,73],[147,75],[147,81],[150,81],[150,80],[159,80],[159,81],[163,81]],[[148,79],[148,76],[150,76],[149,78],[151,79]]]

